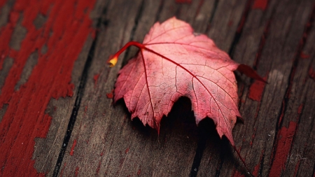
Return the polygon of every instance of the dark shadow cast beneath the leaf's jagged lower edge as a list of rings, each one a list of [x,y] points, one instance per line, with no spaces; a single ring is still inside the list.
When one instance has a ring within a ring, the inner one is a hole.
[[[218,136],[216,125],[211,118],[205,118],[200,121],[199,125],[196,125],[191,102],[187,97],[179,98],[174,103],[169,115],[162,118],[160,134],[148,125],[144,126],[139,118],[130,120],[131,113],[127,110],[123,99],[120,99],[116,104],[123,104],[123,109],[127,113],[128,126],[137,131],[137,134],[141,134],[142,139],[151,141],[152,143],[158,142],[160,143],[160,148],[167,148],[169,146],[178,148],[181,148],[181,146],[187,147],[187,142],[189,142],[190,147],[195,148],[196,154],[200,155],[200,157],[196,157],[197,155],[195,155],[192,169],[196,167],[198,169],[200,163],[207,162],[206,165],[211,164],[215,166],[214,169],[216,169],[216,175],[218,176],[221,174],[221,169],[223,168],[223,172],[227,171],[226,168],[231,168],[234,171],[237,170],[242,174],[246,174],[246,170],[242,167],[240,160],[237,159],[237,155],[235,155],[228,139],[225,136],[223,136],[223,139]],[[237,120],[237,123],[241,123],[241,121]],[[208,156],[214,156],[214,158],[208,161],[204,160]],[[211,173],[213,172],[209,171],[209,174]]]

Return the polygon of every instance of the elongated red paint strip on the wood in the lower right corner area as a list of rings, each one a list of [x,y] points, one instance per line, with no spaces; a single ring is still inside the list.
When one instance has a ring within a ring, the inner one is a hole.
[[[276,152],[274,153],[272,167],[269,176],[281,176],[286,169],[286,161],[288,160],[290,147],[293,141],[293,136],[296,131],[296,122],[290,122],[288,128],[282,127],[277,136]]]

